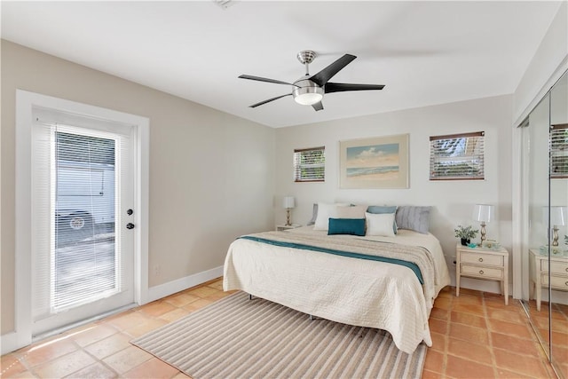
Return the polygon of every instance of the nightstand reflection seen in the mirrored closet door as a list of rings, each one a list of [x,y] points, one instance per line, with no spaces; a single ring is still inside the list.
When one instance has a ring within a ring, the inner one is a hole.
[[[568,257],[550,257],[550,280],[548,281],[548,254],[540,255],[538,249],[530,249],[529,270],[531,288],[529,297],[534,298],[536,292],[536,310],[540,312],[540,288],[568,291]]]

